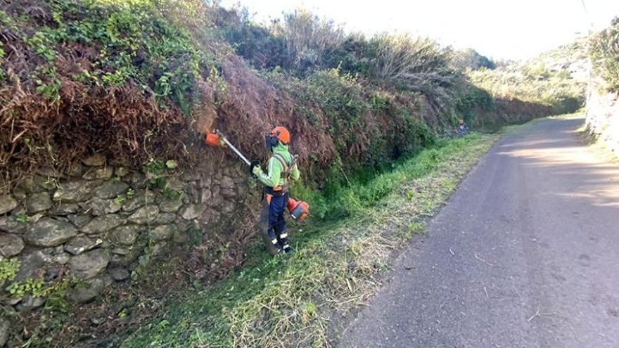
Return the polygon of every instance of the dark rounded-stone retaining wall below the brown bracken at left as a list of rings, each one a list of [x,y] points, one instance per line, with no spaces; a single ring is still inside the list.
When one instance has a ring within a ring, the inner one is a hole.
[[[94,155],[67,174],[40,170],[0,193],[0,256],[19,261],[0,284],[1,302],[18,311],[40,307],[44,297],[7,289],[62,279],[79,285],[66,290],[68,299],[88,302],[114,282],[139,277],[148,260],[187,247],[196,233],[208,238],[248,198],[238,162],[175,167],[153,161],[129,169]]]

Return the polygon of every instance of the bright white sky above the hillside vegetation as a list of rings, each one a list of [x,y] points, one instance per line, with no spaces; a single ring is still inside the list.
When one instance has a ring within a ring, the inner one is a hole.
[[[587,12],[583,8],[585,2]],[[526,59],[610,25],[619,0],[222,0],[257,22],[307,8],[347,32],[411,32],[498,59]],[[587,15],[588,14],[588,15]]]

